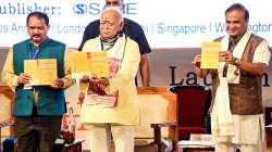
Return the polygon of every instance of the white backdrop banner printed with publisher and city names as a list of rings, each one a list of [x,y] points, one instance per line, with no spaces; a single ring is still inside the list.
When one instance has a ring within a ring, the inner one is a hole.
[[[151,48],[199,48],[225,31],[224,11],[234,0],[124,0],[124,14],[137,21]],[[272,45],[269,0],[240,0],[250,12],[250,30]],[[0,47],[27,38],[26,16],[41,11],[50,17],[49,36],[77,48],[87,24],[99,18],[103,0],[2,0],[0,1]]]

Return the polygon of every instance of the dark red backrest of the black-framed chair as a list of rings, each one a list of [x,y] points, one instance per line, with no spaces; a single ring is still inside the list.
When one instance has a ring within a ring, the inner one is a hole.
[[[205,128],[211,90],[205,86],[175,86],[170,90],[177,94],[178,127]]]

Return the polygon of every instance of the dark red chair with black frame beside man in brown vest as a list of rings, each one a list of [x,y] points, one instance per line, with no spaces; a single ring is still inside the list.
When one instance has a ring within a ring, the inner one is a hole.
[[[190,134],[210,132],[211,90],[203,86],[175,86],[170,90],[177,94],[178,140],[188,140]]]

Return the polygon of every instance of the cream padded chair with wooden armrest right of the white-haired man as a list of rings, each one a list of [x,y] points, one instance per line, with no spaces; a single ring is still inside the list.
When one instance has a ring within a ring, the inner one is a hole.
[[[177,148],[176,94],[166,87],[138,87],[140,126],[135,152],[170,152]],[[111,149],[111,152],[114,148]]]

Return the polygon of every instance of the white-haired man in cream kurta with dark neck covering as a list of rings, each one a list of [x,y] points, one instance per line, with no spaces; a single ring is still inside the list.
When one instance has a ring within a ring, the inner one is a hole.
[[[122,25],[120,10],[107,8],[100,17],[100,36],[88,40],[83,48],[83,51],[108,52],[109,93],[118,92],[113,93],[118,99],[114,106],[92,104],[92,97],[86,92],[81,123],[91,132],[91,152],[109,152],[111,134],[116,152],[134,151],[133,126],[139,125],[139,104],[134,78],[140,54],[138,45],[121,34]]]

